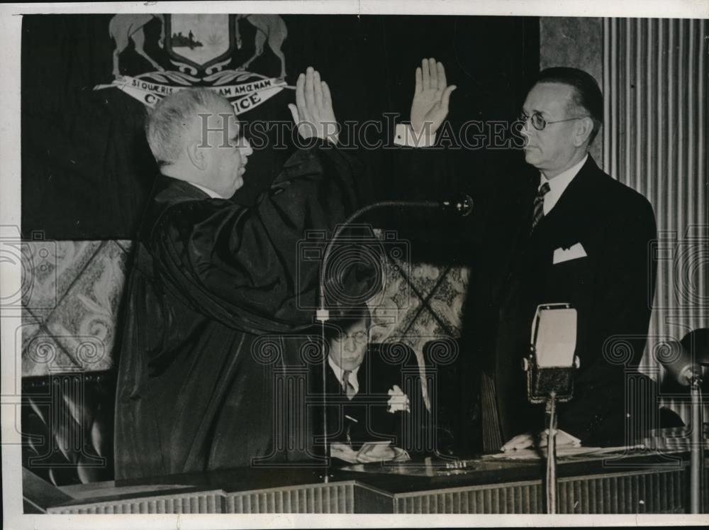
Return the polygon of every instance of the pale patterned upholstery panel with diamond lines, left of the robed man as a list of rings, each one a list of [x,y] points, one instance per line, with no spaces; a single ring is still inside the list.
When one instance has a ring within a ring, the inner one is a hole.
[[[22,375],[113,366],[128,241],[26,241]]]

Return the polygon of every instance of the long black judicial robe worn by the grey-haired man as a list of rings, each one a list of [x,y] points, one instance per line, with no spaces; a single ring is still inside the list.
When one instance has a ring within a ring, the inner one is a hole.
[[[354,168],[325,143],[299,150],[253,209],[158,178],[123,301],[116,478],[306,458],[274,441],[291,353],[252,346],[313,323],[319,262],[298,242],[351,213]]]

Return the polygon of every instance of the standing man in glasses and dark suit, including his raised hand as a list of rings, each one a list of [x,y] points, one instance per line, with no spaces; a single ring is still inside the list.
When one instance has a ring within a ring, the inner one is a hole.
[[[437,70],[445,72],[442,65]],[[425,77],[432,79],[432,72],[429,65]],[[419,78],[417,72],[414,101],[420,99]],[[430,142],[447,115],[451,89],[445,74],[435,79],[428,82],[437,88],[432,99],[441,102],[435,116],[411,113],[413,136],[425,132]],[[566,67],[540,72],[521,121],[523,137],[518,139],[524,140],[530,175],[518,175],[515,184],[520,185],[498,194],[474,194],[475,214],[462,229],[477,258],[464,329],[466,342],[473,345],[467,353],[474,355],[462,355],[452,400],[462,410],[459,451],[471,451],[476,439],[475,428],[467,427],[476,409],[477,392],[471,390],[476,370],[481,371],[484,450],[521,449],[537,441],[545,426],[544,407],[527,403],[521,360],[530,351],[537,306],[557,302],[578,311],[576,355],[581,362],[573,399],[558,407],[564,432],[557,443],[632,442],[640,433],[630,426],[654,426],[657,412],[654,382],[635,372],[647,341],[656,276],[650,250],[657,237],[652,206],[606,175],[588,154],[603,121],[603,95],[588,73]],[[426,158],[434,160],[431,153]],[[412,166],[411,172],[416,171]],[[506,169],[494,167],[493,172],[499,177]],[[627,371],[642,382],[627,385]],[[633,385],[649,392],[631,395]],[[649,417],[636,417],[628,407],[632,400]]]

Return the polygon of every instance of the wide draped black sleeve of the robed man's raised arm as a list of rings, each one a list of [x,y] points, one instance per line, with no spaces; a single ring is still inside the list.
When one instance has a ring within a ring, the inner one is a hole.
[[[327,236],[312,243],[306,231],[329,236],[354,210],[357,167],[323,142],[294,154],[255,208],[223,199],[171,206],[152,234],[164,285],[234,329],[284,333],[312,324],[320,260],[303,254],[321,250]]]

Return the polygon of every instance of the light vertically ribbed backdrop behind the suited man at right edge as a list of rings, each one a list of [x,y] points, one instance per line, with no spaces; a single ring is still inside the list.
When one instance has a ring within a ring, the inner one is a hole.
[[[642,370],[658,380],[665,341],[709,322],[707,26],[603,18],[603,92],[610,94],[603,168],[657,214],[659,238],[649,250],[659,259],[657,292]]]

